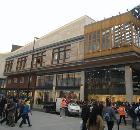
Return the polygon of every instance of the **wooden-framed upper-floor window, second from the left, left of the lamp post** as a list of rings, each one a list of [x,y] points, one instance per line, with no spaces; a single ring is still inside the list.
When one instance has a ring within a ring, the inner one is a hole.
[[[24,70],[27,65],[28,56],[18,58],[17,61],[17,70]]]

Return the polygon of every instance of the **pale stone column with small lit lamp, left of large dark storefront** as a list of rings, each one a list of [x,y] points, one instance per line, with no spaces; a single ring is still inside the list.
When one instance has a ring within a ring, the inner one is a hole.
[[[81,71],[80,101],[84,101],[85,71]]]

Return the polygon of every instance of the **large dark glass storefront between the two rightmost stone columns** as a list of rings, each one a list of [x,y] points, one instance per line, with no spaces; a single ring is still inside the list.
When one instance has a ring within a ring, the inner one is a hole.
[[[86,71],[85,81],[85,100],[125,99],[125,67]]]

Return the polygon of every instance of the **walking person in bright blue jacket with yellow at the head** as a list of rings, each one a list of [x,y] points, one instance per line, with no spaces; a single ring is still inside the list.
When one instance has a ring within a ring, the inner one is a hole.
[[[24,112],[23,112],[23,119],[19,125],[20,128],[22,128],[22,124],[25,122],[25,120],[27,119],[28,121],[28,126],[31,127],[32,125],[30,124],[30,120],[29,120],[29,115],[28,113],[30,112],[30,101],[26,102],[26,106],[24,108]],[[31,113],[31,112],[30,112]],[[31,113],[32,115],[32,113]]]

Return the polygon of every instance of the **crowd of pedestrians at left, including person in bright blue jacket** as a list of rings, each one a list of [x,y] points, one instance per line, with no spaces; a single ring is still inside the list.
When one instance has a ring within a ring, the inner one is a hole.
[[[15,97],[6,97],[3,96],[0,99],[0,124],[2,125],[4,122],[6,125],[10,127],[14,127],[15,123],[22,118],[22,121],[19,127],[22,127],[22,124],[27,124],[26,120],[28,121],[28,126],[32,126],[30,124],[29,115],[31,110],[33,109],[33,98],[27,101],[26,99],[17,99]],[[32,115],[32,113],[31,113]]]

